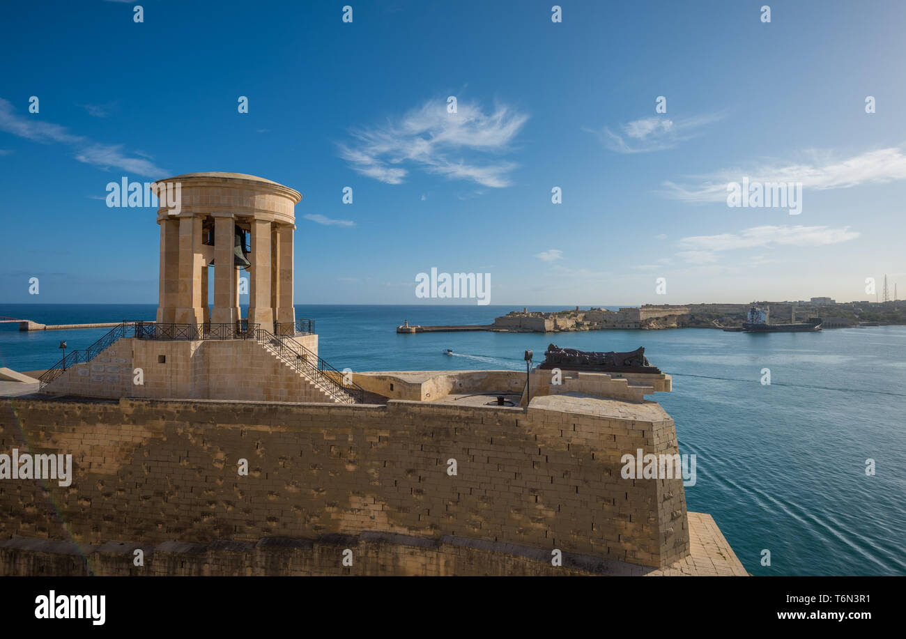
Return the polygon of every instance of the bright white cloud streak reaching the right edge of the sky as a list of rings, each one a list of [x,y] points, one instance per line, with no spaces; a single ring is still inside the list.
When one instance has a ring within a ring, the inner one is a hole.
[[[666,195],[687,202],[726,202],[727,185],[741,182],[801,182],[804,189],[849,189],[861,184],[882,184],[906,179],[906,155],[900,147],[871,150],[843,160],[808,151],[805,161],[764,164],[748,169],[721,169],[694,176],[697,184],[683,186],[664,182]]]

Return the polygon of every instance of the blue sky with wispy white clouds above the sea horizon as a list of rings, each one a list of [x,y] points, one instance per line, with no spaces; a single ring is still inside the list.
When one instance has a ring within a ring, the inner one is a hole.
[[[0,302],[156,302],[155,211],[106,185],[206,170],[303,194],[302,304],[431,267],[492,304],[906,293],[906,3],[347,2],[5,5]],[[729,208],[743,177],[802,213]]]

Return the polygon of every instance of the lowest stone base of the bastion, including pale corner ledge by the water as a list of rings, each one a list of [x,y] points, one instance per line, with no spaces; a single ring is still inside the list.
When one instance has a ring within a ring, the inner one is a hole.
[[[37,569],[41,574],[48,575],[54,574],[54,571],[62,575],[229,575],[236,574],[238,567],[247,575],[274,575],[274,562],[269,560],[275,557],[275,553],[284,553],[285,555],[280,555],[286,558],[279,562],[278,574],[287,576],[747,575],[710,515],[690,512],[689,533],[689,556],[663,569],[575,553],[564,553],[563,566],[555,567],[551,566],[551,548],[519,546],[454,535],[431,539],[369,530],[357,536],[326,534],[315,539],[263,537],[257,542],[223,539],[207,545],[167,541],[156,547],[119,541],[79,547],[71,541],[17,537],[0,541],[0,570],[5,575],[23,574],[23,569]],[[343,568],[337,564],[333,554],[329,560],[324,559],[323,552],[319,553],[317,547],[352,548],[357,563],[353,568]],[[132,566],[131,557],[137,548],[144,551],[146,566],[143,568]],[[236,554],[248,557],[241,559]],[[101,557],[103,555],[109,558]],[[124,557],[117,557],[120,555]],[[73,556],[80,557],[81,560],[74,564],[60,560]],[[174,556],[178,556],[175,562]],[[319,561],[323,566],[318,566]],[[88,566],[92,566],[92,569],[89,570]]]

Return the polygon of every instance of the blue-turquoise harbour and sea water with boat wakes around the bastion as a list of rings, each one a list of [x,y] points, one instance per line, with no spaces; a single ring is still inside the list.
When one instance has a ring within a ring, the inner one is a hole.
[[[697,457],[689,510],[710,513],[753,575],[906,574],[906,326],[816,334],[708,329],[568,334],[397,334],[410,324],[487,324],[512,306],[297,305],[321,355],[356,371],[525,370],[523,351],[644,346],[673,375],[657,393],[679,452]],[[531,310],[560,310],[533,306]],[[43,324],[153,319],[154,305],[0,305]],[[108,329],[19,333],[0,324],[0,365],[47,368],[57,345],[84,348]],[[441,351],[451,348],[453,356]],[[760,380],[769,368],[771,384]],[[872,459],[876,475],[865,474]],[[761,552],[771,566],[761,566]]]

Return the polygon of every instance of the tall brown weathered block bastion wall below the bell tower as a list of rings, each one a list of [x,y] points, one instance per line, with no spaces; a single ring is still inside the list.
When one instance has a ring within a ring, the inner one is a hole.
[[[624,453],[678,452],[654,402],[4,400],[0,452],[14,448],[72,454],[75,470],[66,487],[0,479],[2,538],[209,544],[374,531],[657,567],[689,552],[682,479],[621,477]]]

